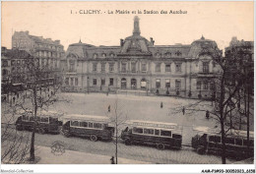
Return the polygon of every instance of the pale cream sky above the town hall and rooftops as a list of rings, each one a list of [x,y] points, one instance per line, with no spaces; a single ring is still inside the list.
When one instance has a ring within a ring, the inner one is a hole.
[[[100,10],[99,14],[80,14]],[[116,10],[130,14],[115,14]],[[138,10],[142,14],[138,14]],[[159,14],[144,14],[144,10]],[[169,11],[186,14],[169,14]],[[71,14],[72,11],[72,14]],[[109,14],[113,11],[113,14]],[[136,14],[132,14],[136,11]],[[167,14],[160,14],[166,11]],[[77,12],[77,14],[76,14]],[[64,49],[80,40],[98,45],[119,45],[132,34],[133,18],[140,18],[141,35],[155,45],[191,44],[204,35],[220,49],[232,36],[250,40],[253,35],[253,2],[2,2],[2,46],[11,48],[12,33],[59,39]]]

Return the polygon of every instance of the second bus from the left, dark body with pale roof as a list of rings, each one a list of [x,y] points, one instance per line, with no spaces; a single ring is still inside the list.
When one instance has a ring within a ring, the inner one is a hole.
[[[91,141],[111,141],[114,127],[110,118],[96,115],[71,114],[63,117],[62,133],[65,137],[88,137]]]

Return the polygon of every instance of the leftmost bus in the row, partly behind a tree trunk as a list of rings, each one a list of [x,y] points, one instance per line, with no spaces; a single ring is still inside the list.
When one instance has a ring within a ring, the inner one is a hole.
[[[54,111],[38,112],[34,118],[32,111],[19,112],[20,117],[16,121],[16,129],[18,131],[32,131],[35,122],[35,130],[39,134],[53,133],[58,134],[62,125],[59,118],[62,114]]]

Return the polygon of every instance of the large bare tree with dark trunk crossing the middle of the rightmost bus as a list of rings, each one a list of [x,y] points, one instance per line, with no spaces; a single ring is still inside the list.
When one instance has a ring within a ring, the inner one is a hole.
[[[236,70],[230,74],[230,68],[228,67],[224,57],[222,56],[222,51],[209,48],[207,51],[201,54],[208,54],[212,56],[213,61],[217,63],[220,67],[220,73],[211,80],[211,83],[214,84],[212,88],[212,102],[214,107],[211,110],[205,109],[206,102],[205,99],[201,98],[201,101],[195,104],[189,104],[176,108],[173,112],[181,112],[184,107],[185,111],[190,112],[205,112],[211,114],[211,118],[217,121],[217,125],[221,128],[221,138],[222,138],[222,161],[225,164],[226,158],[226,147],[225,147],[225,138],[230,129],[234,128],[235,123],[233,122],[236,118],[238,109],[236,105],[238,104],[237,93],[241,87],[245,84],[247,77],[243,76],[242,70]],[[230,79],[230,75],[232,78]],[[235,81],[233,81],[235,80]],[[210,107],[210,105],[209,105]],[[211,108],[211,107],[210,107]]]

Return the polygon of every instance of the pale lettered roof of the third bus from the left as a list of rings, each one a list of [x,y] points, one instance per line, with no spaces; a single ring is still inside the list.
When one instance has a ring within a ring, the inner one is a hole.
[[[151,128],[165,128],[165,129],[176,129],[176,123],[164,123],[164,122],[153,122],[153,121],[142,121],[142,120],[128,120],[128,125],[139,126],[139,127],[151,127]]]

